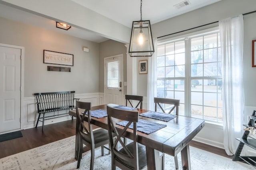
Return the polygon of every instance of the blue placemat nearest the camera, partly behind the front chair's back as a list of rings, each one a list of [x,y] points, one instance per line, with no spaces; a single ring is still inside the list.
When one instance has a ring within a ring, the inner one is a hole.
[[[117,125],[126,126],[128,121],[121,121],[116,123]],[[156,132],[157,130],[166,127],[167,125],[162,125],[160,123],[154,123],[150,121],[145,121],[142,119],[139,119],[137,123],[137,130],[146,134],[150,134],[153,132]],[[133,123],[129,126],[129,128],[133,129]]]

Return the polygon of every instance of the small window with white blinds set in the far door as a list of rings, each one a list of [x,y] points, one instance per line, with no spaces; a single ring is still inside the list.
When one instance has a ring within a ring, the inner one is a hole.
[[[107,77],[106,86],[108,89],[119,88],[119,61],[113,60],[106,63]]]

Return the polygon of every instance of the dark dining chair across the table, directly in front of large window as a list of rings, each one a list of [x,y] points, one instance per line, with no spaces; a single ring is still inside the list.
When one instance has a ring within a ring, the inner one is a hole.
[[[179,115],[180,100],[154,97],[154,103],[155,103],[155,111],[157,111],[157,107],[160,107],[162,112],[166,113],[165,109],[162,107],[161,104],[167,104],[167,105],[171,105],[170,106],[171,108],[170,108],[170,111],[168,112],[168,114],[171,114],[172,111],[174,111],[174,109],[175,109],[175,115],[176,116]],[[164,159],[164,155],[163,155],[163,159]],[[164,161],[162,161],[162,162],[164,162]],[[178,157],[177,157],[177,155],[174,156],[174,163],[175,163],[175,168],[177,170],[179,168],[178,167]],[[164,164],[162,164],[162,166],[164,166]]]

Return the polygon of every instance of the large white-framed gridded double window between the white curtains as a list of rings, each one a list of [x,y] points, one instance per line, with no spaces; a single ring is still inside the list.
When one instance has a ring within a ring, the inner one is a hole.
[[[222,123],[218,30],[158,43],[157,96],[179,99],[179,115]]]

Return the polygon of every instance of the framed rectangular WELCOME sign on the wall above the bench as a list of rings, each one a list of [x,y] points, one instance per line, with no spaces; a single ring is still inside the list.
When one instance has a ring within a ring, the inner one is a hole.
[[[73,66],[73,59],[73,54],[44,50],[44,63]]]

